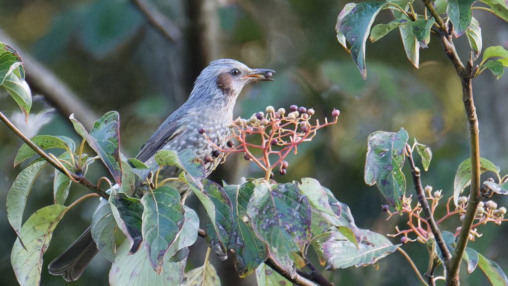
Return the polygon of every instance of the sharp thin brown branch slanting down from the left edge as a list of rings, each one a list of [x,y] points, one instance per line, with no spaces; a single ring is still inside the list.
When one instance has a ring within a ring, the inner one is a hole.
[[[0,120],[2,120],[9,129],[11,129],[23,142],[25,142],[28,147],[30,147],[32,150],[37,152],[37,154],[41,155],[41,157],[44,158],[49,164],[51,164],[53,167],[55,167],[57,170],[59,170],[61,173],[69,173],[72,176],[72,179],[74,181],[78,181],[80,184],[84,185],[85,187],[92,190],[94,193],[97,193],[98,195],[108,199],[109,194],[107,194],[103,189],[99,188],[98,186],[92,184],[90,181],[88,181],[84,176],[76,175],[74,173],[71,173],[69,170],[63,170],[60,165],[51,158],[46,152],[44,152],[39,146],[37,146],[33,141],[31,141],[28,137],[26,137],[21,130],[19,130],[5,115],[2,111],[0,111]],[[71,155],[72,156],[72,155]]]

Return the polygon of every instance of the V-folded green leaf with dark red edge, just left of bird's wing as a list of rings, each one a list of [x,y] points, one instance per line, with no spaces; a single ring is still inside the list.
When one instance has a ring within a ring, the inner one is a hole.
[[[74,114],[69,117],[76,132],[86,139],[88,145],[97,152],[115,181],[121,185],[122,166],[120,161],[120,134],[119,115],[116,111],[107,112],[101,119],[93,124],[88,134]]]

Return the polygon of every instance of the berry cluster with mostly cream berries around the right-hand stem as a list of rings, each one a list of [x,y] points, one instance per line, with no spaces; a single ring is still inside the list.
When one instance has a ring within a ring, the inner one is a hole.
[[[439,200],[443,197],[441,195],[441,190],[432,192],[431,186],[425,187],[425,192],[428,194],[425,198],[430,203],[430,211],[432,215],[434,214],[434,211],[439,204]],[[454,215],[459,214],[460,220],[464,221],[465,213],[466,213],[466,207],[469,202],[469,198],[465,196],[461,196],[458,198],[458,205],[455,208],[455,210],[450,210],[450,201],[452,201],[453,196],[451,196],[448,199],[447,203],[447,214],[444,215],[441,219],[436,221],[436,224],[439,224],[444,219]],[[428,239],[433,238],[433,234],[430,230],[430,226],[428,222],[420,217],[420,213],[422,212],[422,207],[420,203],[417,203],[415,208],[411,208],[411,197],[403,198],[403,206],[402,206],[402,213],[407,213],[409,216],[409,219],[407,221],[407,225],[409,225],[409,229],[407,230],[399,230],[398,226],[395,227],[395,230],[397,231],[396,234],[388,235],[391,237],[396,237],[398,235],[403,235],[403,237],[400,239],[402,243],[406,243],[409,241],[419,241],[419,242],[426,242]],[[398,214],[398,212],[390,212],[390,209],[388,205],[383,206],[383,211],[387,212],[390,216],[387,218],[390,219],[394,214]],[[478,226],[480,224],[485,224],[489,221],[494,222],[495,224],[501,224],[501,221],[508,220],[504,218],[504,215],[506,214],[506,208],[500,207],[497,208],[497,204],[494,201],[488,201],[486,203],[480,202],[480,205],[477,210],[477,215],[475,217],[475,220],[478,220],[472,225],[471,232],[469,233],[469,240],[474,241],[474,237],[481,237],[482,234],[478,233],[475,226]],[[414,218],[416,219],[416,223],[414,222]],[[426,227],[422,227],[422,222],[426,225]],[[408,234],[414,232],[417,235],[417,239],[410,239],[408,238]],[[457,236],[460,233],[460,226],[457,227],[455,230],[455,236]]]

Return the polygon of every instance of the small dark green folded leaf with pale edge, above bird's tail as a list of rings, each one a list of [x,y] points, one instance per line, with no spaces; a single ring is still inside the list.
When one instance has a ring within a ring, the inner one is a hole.
[[[129,240],[131,252],[136,252],[143,241],[141,234],[143,205],[141,201],[128,197],[125,193],[117,193],[115,189],[111,188],[109,203],[116,224]]]

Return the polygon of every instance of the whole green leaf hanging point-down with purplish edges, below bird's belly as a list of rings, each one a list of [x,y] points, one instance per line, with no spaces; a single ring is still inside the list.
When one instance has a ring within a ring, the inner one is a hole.
[[[183,206],[180,193],[173,187],[161,186],[141,198],[143,204],[142,234],[148,261],[158,274],[163,272],[164,255],[180,232]]]

